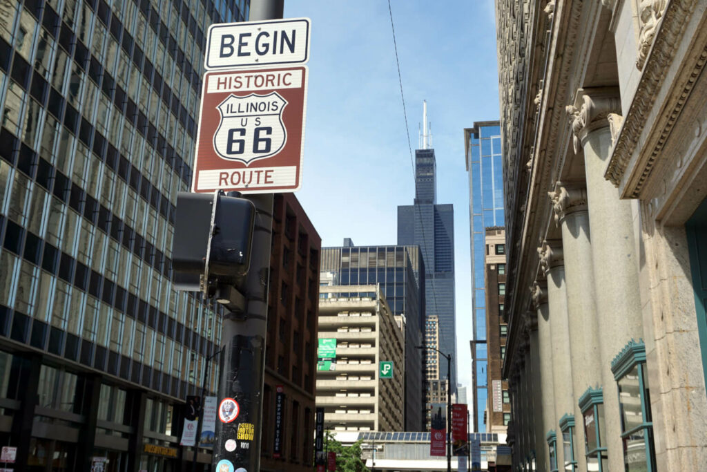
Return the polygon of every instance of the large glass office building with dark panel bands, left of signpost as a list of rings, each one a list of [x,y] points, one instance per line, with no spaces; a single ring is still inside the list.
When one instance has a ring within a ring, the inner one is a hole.
[[[98,456],[161,471],[191,455],[180,405],[220,325],[213,303],[173,290],[175,201],[206,28],[248,9],[0,1],[0,443],[19,468]]]

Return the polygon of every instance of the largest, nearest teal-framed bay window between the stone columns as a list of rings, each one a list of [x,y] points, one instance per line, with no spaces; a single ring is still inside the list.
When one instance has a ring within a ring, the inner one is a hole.
[[[625,469],[653,472],[655,446],[643,342],[631,340],[612,362],[612,372],[619,389]]]

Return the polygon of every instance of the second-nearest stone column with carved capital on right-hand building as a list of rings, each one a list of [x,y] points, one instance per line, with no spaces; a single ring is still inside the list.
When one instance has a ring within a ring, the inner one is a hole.
[[[549,195],[555,212],[555,221],[562,229],[572,360],[571,381],[573,390],[579,393],[599,384],[602,376],[587,192],[584,188],[558,182],[554,192],[550,192]],[[582,412],[576,398],[572,408],[563,414],[581,418]],[[575,429],[574,444],[582,444],[583,434],[577,434],[577,430]],[[575,459],[579,470],[585,470],[584,454],[575,454]]]

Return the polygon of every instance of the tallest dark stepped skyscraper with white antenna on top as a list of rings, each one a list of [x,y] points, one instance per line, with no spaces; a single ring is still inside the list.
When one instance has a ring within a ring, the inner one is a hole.
[[[398,244],[417,245],[425,265],[425,317],[436,317],[439,343],[445,355],[452,355],[452,372],[447,362],[428,350],[426,363],[438,366],[435,379],[449,379],[449,388],[457,387],[457,343],[455,324],[454,209],[451,204],[437,204],[435,151],[423,135],[422,149],[415,151],[415,199],[413,205],[398,207]]]

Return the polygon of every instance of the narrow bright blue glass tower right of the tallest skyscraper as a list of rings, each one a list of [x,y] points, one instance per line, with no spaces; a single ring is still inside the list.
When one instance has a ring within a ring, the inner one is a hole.
[[[472,254],[472,379],[474,382],[474,425],[484,432],[484,408],[488,401],[486,347],[486,292],[484,256],[486,228],[504,226],[503,163],[501,127],[498,121],[474,122],[464,129],[464,150],[469,171],[469,220]]]

